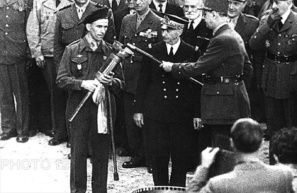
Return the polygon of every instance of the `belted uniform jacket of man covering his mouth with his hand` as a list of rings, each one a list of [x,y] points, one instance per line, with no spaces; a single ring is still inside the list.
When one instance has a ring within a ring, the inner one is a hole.
[[[265,95],[275,98],[290,98],[297,91],[297,60],[281,62],[280,57],[297,56],[297,13],[291,10],[285,24],[279,30],[277,22],[269,29],[267,22],[260,26],[249,41],[253,49],[266,48],[267,55],[263,65],[262,88]]]

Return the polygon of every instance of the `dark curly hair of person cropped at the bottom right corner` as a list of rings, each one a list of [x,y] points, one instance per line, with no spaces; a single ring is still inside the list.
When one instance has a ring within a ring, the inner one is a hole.
[[[297,164],[297,128],[283,128],[270,140],[270,153],[277,155],[280,163]]]

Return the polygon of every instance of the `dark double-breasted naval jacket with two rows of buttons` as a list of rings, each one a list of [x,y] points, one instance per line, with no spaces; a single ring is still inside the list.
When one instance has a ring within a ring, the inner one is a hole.
[[[171,62],[194,62],[199,57],[198,52],[183,41],[174,57],[168,56],[164,42],[153,45],[148,53]],[[135,95],[135,112],[165,123],[200,117],[200,97],[195,96],[195,83],[174,79],[159,65],[148,57],[144,58]]]

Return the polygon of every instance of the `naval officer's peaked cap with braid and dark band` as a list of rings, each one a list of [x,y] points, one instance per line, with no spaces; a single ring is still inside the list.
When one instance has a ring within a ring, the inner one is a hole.
[[[189,22],[185,19],[182,19],[176,15],[161,13],[163,18],[160,19],[160,27],[163,30],[178,30],[184,29],[185,25]]]

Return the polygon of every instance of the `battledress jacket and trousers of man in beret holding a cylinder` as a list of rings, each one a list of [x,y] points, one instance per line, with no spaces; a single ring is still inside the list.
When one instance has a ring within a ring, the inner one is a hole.
[[[112,49],[102,41],[98,49],[93,51],[86,37],[66,47],[58,74],[57,86],[69,92],[66,107],[66,118],[70,118],[80,101],[87,92],[81,88],[83,80],[94,80],[100,67],[112,53]],[[121,66],[113,70],[114,81],[108,89],[111,92],[123,86]],[[111,95],[111,104],[115,104]],[[105,102],[107,103],[107,99]],[[108,105],[107,105],[108,106]],[[111,106],[115,116],[115,105]],[[92,189],[94,193],[106,193],[108,158],[110,150],[109,134],[99,134],[97,126],[98,106],[90,97],[78,112],[71,124],[71,193],[85,193],[87,190],[87,150],[88,141],[93,148]],[[108,112],[108,110],[107,110]],[[108,113],[107,113],[108,114]],[[108,119],[107,119],[108,120]],[[102,127],[106,124],[102,124]],[[107,121],[109,129],[109,122]],[[91,137],[89,139],[89,133]]]

